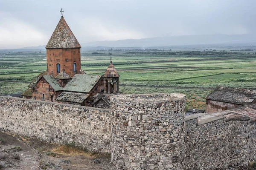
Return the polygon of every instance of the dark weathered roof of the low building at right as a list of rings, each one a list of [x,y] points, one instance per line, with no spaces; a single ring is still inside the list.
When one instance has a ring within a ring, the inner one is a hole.
[[[247,105],[252,104],[252,102],[256,99],[256,90],[221,86],[209,94],[206,99]]]

